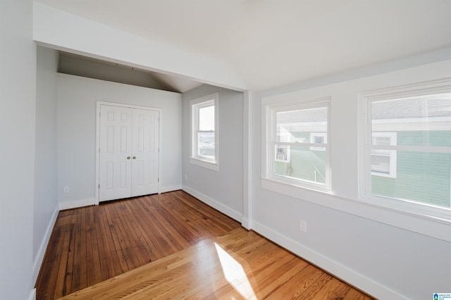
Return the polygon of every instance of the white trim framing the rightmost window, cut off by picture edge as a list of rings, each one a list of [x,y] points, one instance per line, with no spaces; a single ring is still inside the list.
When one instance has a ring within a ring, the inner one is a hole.
[[[406,98],[409,96],[424,96],[428,94],[440,94],[451,92],[451,78],[434,80],[431,82],[419,82],[412,85],[377,89],[359,94],[359,201],[364,204],[383,208],[387,211],[413,215],[426,220],[439,223],[451,223],[451,208],[442,208],[431,204],[422,204],[416,201],[390,199],[388,197],[371,194],[371,117],[369,116],[369,104],[371,100],[388,100]],[[400,148],[400,146],[398,146]],[[409,150],[409,146],[401,147]],[[415,147],[416,148],[416,147]],[[449,152],[451,147],[425,147],[427,151]],[[416,230],[415,230],[416,231]],[[421,232],[422,230],[418,230]],[[431,236],[437,236],[437,232],[430,232]],[[448,239],[450,240],[451,239]]]

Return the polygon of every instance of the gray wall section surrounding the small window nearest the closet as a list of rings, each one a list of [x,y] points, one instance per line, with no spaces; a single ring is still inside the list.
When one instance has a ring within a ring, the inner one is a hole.
[[[218,92],[219,170],[192,165],[190,101]],[[243,93],[202,85],[183,94],[183,189],[240,220],[243,193]]]

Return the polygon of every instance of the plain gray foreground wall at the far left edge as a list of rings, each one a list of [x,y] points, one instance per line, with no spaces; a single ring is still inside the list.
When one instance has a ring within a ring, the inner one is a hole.
[[[0,4],[0,291],[32,299],[36,45],[32,1]]]

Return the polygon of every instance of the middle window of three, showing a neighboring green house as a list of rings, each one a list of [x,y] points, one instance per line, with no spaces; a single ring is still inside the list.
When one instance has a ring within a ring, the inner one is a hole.
[[[330,190],[329,103],[327,98],[266,107],[266,179]]]

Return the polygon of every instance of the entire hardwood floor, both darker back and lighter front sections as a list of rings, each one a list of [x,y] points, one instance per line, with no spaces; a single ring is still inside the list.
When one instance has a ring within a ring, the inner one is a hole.
[[[181,191],[62,211],[37,299],[61,296],[371,299]]]

